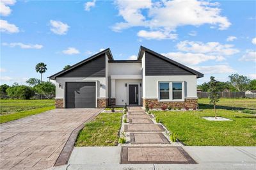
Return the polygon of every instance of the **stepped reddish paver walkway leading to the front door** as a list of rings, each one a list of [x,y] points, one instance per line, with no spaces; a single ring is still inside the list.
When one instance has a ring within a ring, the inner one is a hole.
[[[196,164],[182,147],[170,146],[163,125],[141,107],[129,107],[127,118],[124,132],[131,144],[122,147],[121,164]]]

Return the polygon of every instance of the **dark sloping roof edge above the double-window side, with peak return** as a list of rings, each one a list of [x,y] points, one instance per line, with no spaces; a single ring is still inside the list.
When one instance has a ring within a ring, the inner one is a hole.
[[[193,70],[192,68],[189,68],[188,66],[184,66],[176,61],[173,61],[172,59],[170,58],[166,58],[165,56],[157,53],[157,52],[154,52],[153,50],[150,50],[150,49],[147,49],[146,47],[143,47],[143,46],[140,46],[140,50],[139,50],[139,53],[138,53],[138,58],[137,60],[141,60],[141,58],[143,57],[143,54],[144,52],[149,52],[150,54],[153,54],[154,56],[158,57],[158,58],[161,58],[165,61],[168,61],[169,63],[172,63],[173,65],[175,66],[178,66],[188,72],[191,72],[193,74],[196,75],[196,78],[201,78],[201,77],[204,77],[204,74],[203,73],[200,73],[200,72],[197,72],[196,70]]]

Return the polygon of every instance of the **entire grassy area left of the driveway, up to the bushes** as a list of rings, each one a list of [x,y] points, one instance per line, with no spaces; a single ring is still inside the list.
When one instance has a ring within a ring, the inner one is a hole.
[[[54,100],[0,100],[0,123],[54,109]]]

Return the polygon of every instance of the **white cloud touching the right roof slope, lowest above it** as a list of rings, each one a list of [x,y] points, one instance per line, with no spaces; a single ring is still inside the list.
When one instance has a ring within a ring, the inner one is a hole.
[[[223,61],[225,58],[222,56],[211,56],[200,53],[182,53],[182,52],[168,52],[162,54],[167,58],[173,59],[179,63],[184,65],[197,65],[199,63],[203,63],[205,61],[214,60],[214,61]]]

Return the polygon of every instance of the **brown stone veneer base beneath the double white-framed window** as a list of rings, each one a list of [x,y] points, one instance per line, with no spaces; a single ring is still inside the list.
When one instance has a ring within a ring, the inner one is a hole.
[[[154,104],[154,108],[161,108],[162,105],[168,105],[172,108],[185,108],[189,107],[189,109],[198,108],[197,98],[186,98],[184,102],[159,102],[158,99],[152,98],[143,98],[143,107],[145,107],[146,103]]]

